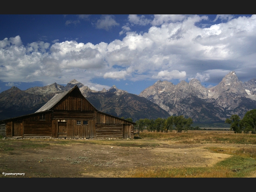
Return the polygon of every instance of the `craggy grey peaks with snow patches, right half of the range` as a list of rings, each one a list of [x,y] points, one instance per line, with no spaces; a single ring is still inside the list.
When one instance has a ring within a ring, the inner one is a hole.
[[[159,80],[139,96],[156,103],[170,115],[184,115],[195,122],[220,122],[233,114],[243,117],[248,110],[256,108],[255,93],[255,78],[243,83],[232,71],[208,89],[197,79],[177,85]]]

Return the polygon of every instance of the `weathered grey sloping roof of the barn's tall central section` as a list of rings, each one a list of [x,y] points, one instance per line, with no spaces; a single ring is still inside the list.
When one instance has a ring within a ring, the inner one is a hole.
[[[38,109],[35,113],[38,113],[38,112],[42,112],[42,111],[47,111],[47,110],[50,110],[54,105],[56,105],[62,98],[64,98],[68,93],[72,92],[74,89],[78,89],[79,92],[80,92],[80,89],[78,88],[77,85],[75,85],[72,89],[69,89],[68,91],[66,92],[63,92],[63,93],[59,93],[59,94],[56,94],[54,95],[54,97],[49,100],[43,107],[41,107],[40,109]],[[81,92],[80,92],[81,93]],[[83,94],[81,93],[81,95],[83,96]],[[83,96],[84,97],[84,96]],[[85,98],[86,99],[86,98]],[[87,100],[88,101],[88,100]],[[89,101],[88,101],[89,102]],[[89,102],[90,103],[90,102]],[[92,104],[91,104],[92,105]],[[92,105],[93,106],[93,105]],[[93,106],[94,107],[94,106]],[[95,108],[95,107],[94,107]],[[95,108],[96,109],[96,108]],[[96,111],[98,111],[96,109]]]

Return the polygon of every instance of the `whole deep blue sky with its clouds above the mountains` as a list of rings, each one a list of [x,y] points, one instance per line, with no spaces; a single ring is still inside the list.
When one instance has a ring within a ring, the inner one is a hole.
[[[256,69],[255,15],[0,15],[0,92],[72,79],[139,94],[157,80],[218,84]]]

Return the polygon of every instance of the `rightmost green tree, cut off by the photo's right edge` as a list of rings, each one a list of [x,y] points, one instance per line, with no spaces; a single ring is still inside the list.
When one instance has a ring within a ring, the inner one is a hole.
[[[256,131],[256,109],[247,111],[244,118],[241,120],[241,127],[244,128],[244,132],[248,133],[252,131],[255,134]]]

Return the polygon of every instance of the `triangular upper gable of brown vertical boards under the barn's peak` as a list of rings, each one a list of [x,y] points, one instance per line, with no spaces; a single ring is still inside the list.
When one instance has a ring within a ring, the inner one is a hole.
[[[68,110],[68,111],[94,111],[95,108],[83,95],[76,89],[62,98],[54,110]]]

